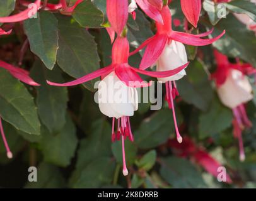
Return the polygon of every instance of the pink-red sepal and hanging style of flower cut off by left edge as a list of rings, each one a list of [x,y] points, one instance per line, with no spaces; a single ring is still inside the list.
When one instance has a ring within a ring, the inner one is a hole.
[[[0,67],[5,68],[6,70],[13,75],[18,80],[21,80],[21,82],[25,82],[26,84],[33,85],[33,86],[39,86],[37,82],[32,80],[32,78],[29,76],[29,72],[18,67],[14,67],[13,65],[3,62],[0,60]],[[1,116],[0,116],[0,131],[1,131],[1,136],[4,141],[4,146],[6,148],[6,155],[8,158],[13,158],[13,154],[11,153],[11,150],[9,149],[9,145],[6,140],[6,136],[4,134],[4,129],[3,129],[3,124],[1,121]]]

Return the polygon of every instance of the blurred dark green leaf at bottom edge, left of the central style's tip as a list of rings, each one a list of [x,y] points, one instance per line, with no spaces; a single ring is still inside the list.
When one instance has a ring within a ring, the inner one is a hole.
[[[99,188],[112,182],[115,163],[110,158],[96,158],[71,177],[72,188]]]

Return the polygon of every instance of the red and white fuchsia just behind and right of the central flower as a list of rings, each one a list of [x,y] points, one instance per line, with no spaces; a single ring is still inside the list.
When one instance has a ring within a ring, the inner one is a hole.
[[[223,33],[221,33],[221,35],[217,36],[216,38],[202,39],[201,37],[210,35],[212,30],[207,31],[206,33],[201,33],[199,35],[173,31],[172,15],[168,6],[163,6],[160,13],[163,19],[163,24],[156,21],[156,35],[144,41],[141,46],[139,46],[136,50],[134,50],[134,52],[131,53],[131,55],[133,55],[146,46],[143,59],[141,60],[141,64],[139,66],[139,68],[142,70],[152,65],[156,65],[156,70],[158,72],[163,70],[173,70],[180,65],[187,63],[187,53],[183,43],[195,46],[209,45],[221,38],[221,36],[223,36],[225,33],[225,31],[223,31]],[[181,79],[185,74],[185,70],[182,70],[171,77],[158,79],[161,82],[165,82],[166,100],[168,101],[169,107],[172,108],[173,111],[173,120],[175,124],[177,140],[180,143],[182,143],[182,137],[178,131],[173,99],[175,99],[176,95],[178,95],[175,80]]]

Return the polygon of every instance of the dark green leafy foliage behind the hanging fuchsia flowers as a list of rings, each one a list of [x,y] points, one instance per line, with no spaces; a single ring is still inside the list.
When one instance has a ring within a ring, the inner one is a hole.
[[[75,2],[67,1],[69,6]],[[4,30],[13,29],[11,35],[0,38],[0,59],[28,70],[41,84],[28,86],[0,69],[0,115],[14,156],[12,160],[6,158],[0,140],[0,187],[255,187],[255,104],[246,106],[254,127],[243,132],[247,159],[240,163],[232,134],[232,112],[219,102],[209,79],[216,69],[213,48],[228,55],[230,62],[239,57],[241,62],[256,65],[255,33],[234,15],[243,13],[255,20],[255,7],[245,0],[224,6],[227,16],[220,19],[218,4],[204,0],[197,30],[187,24],[191,33],[202,33],[213,26],[210,38],[223,30],[226,34],[213,46],[186,46],[190,64],[187,76],[177,81],[180,96],[175,99],[175,111],[183,139],[189,137],[197,148],[224,165],[233,179],[231,185],[218,182],[193,156],[183,156],[182,151],[190,146],[181,144],[182,149],[175,149],[173,114],[167,109],[165,91],[160,111],[151,111],[150,103],[139,104],[131,117],[134,143],[125,141],[129,177],[123,177],[121,142],[111,142],[111,119],[103,116],[94,102],[92,91],[97,79],[84,87],[46,84],[45,80],[74,80],[111,63],[112,45],[104,28],[109,26],[106,1],[84,0],[70,16],[40,9],[38,18],[0,24]],[[18,1],[16,7],[14,0],[0,1],[0,16],[23,9]],[[180,1],[173,0],[170,10],[173,21],[178,22],[173,23],[173,30],[185,31]],[[136,20],[129,14],[127,28],[131,51],[156,32],[154,22],[141,9],[136,9]],[[133,55],[129,63],[138,67],[142,55],[143,51]],[[253,84],[255,77],[250,77],[250,82]],[[28,182],[29,166],[37,166],[38,182]]]

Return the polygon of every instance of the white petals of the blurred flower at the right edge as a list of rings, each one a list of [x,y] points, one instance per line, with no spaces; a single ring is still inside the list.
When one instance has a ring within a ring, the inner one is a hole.
[[[253,99],[248,78],[238,70],[231,70],[226,82],[217,91],[221,102],[231,109]]]

